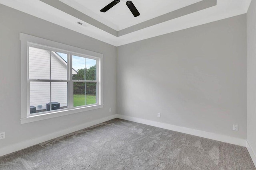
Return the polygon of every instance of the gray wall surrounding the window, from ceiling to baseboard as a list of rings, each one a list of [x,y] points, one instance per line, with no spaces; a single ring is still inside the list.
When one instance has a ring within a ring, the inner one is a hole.
[[[1,148],[116,114],[116,47],[3,5],[0,22],[0,131],[6,132]],[[19,32],[102,53],[104,107],[20,124]]]

